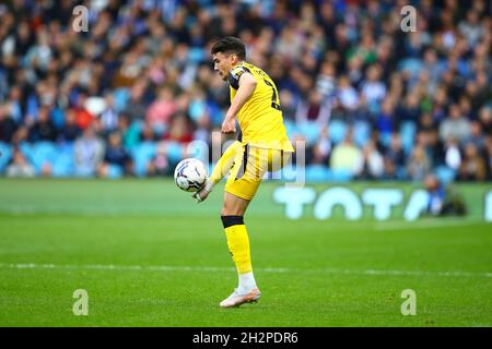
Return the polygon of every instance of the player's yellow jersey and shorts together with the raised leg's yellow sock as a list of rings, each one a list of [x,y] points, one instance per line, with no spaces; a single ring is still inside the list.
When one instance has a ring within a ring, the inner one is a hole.
[[[265,172],[280,170],[294,148],[283,125],[277,86],[261,69],[242,62],[231,70],[231,101],[239,88],[241,75],[246,72],[255,77],[257,84],[237,113],[239,140],[225,151],[210,179],[216,183],[229,171],[225,191],[251,200]]]

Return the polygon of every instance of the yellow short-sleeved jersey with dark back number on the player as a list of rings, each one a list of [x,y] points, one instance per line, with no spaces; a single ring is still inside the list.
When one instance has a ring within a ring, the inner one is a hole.
[[[239,88],[239,77],[245,72],[250,73],[257,84],[251,97],[237,113],[242,132],[239,141],[257,147],[294,152],[283,125],[277,86],[261,69],[241,62],[230,71],[231,101]]]

